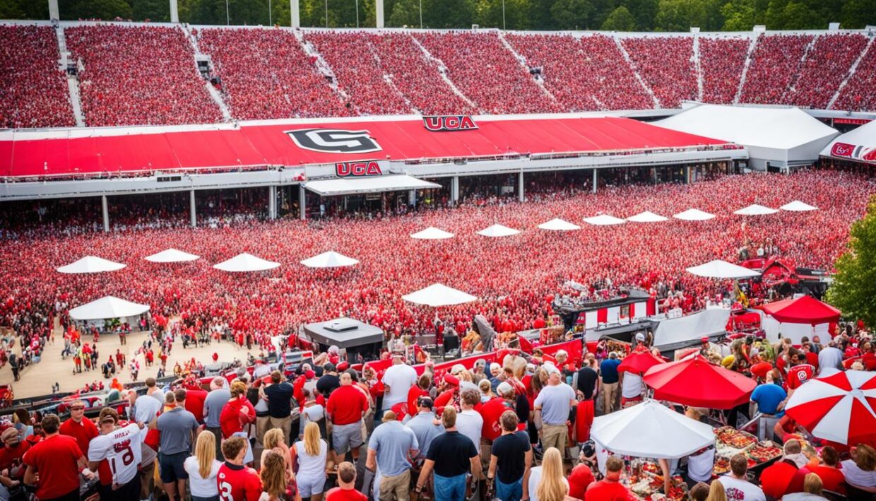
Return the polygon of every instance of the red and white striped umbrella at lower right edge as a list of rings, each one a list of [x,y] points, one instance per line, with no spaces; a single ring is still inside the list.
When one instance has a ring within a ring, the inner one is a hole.
[[[846,370],[809,380],[788,399],[785,412],[810,434],[855,444],[876,434],[876,372]]]

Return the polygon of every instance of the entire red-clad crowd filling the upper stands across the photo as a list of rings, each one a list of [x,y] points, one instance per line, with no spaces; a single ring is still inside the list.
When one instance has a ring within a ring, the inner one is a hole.
[[[697,45],[690,36],[598,33],[190,31],[194,39],[166,26],[64,28],[81,70],[85,123],[222,121],[195,50],[212,61],[208,76],[231,117],[243,120],[675,108],[698,98],[734,102],[737,94],[740,103],[827,108],[837,90],[833,109],[867,110],[876,81],[872,40],[859,33],[761,34],[746,67],[749,38],[700,37]],[[14,90],[0,95],[3,123],[74,124],[54,34],[0,26],[4,47],[16,47],[0,53],[15,69],[3,77]]]

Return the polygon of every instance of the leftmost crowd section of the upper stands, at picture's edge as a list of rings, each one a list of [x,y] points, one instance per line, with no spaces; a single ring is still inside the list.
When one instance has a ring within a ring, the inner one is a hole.
[[[52,28],[0,25],[0,128],[75,125],[58,58]]]

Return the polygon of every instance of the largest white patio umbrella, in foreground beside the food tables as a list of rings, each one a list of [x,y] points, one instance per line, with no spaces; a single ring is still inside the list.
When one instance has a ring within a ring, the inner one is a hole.
[[[594,419],[590,437],[614,454],[655,459],[684,457],[715,443],[712,427],[652,399]]]

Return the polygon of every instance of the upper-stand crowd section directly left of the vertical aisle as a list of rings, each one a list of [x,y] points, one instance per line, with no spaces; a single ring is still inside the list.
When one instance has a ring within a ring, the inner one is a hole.
[[[698,95],[694,39],[647,37],[622,39],[632,67],[653,90],[663,108],[678,108]]]

